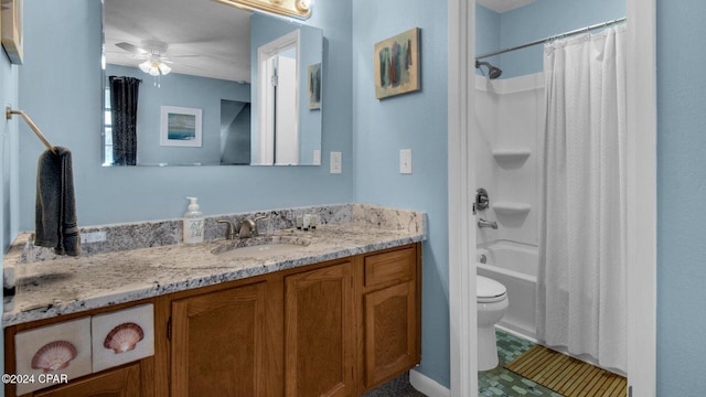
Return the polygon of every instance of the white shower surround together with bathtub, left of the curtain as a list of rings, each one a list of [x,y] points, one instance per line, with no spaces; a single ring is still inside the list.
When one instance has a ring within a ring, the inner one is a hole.
[[[490,195],[479,217],[498,229],[477,234],[478,273],[507,288],[510,308],[500,325],[537,340],[537,140],[544,129],[544,74],[488,79],[475,77],[475,180]]]

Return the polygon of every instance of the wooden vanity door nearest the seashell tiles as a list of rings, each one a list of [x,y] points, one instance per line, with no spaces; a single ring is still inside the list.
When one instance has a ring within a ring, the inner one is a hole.
[[[172,302],[171,396],[265,396],[266,282]]]

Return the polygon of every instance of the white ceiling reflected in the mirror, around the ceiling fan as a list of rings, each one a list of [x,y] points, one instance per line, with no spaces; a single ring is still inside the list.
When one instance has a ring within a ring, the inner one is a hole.
[[[137,66],[143,60],[115,44],[157,40],[172,73],[249,82],[250,15],[210,0],[104,0],[106,62]]]

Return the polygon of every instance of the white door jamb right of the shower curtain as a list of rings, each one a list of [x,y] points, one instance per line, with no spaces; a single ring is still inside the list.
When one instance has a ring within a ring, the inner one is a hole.
[[[656,396],[656,11],[628,3],[628,383]]]

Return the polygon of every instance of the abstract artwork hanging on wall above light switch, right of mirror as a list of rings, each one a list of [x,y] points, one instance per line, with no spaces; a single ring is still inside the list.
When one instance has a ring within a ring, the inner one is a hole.
[[[375,44],[375,98],[419,89],[419,28]]]

